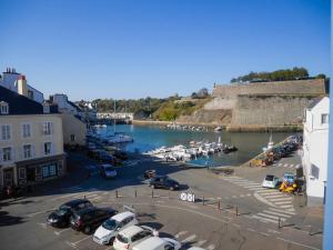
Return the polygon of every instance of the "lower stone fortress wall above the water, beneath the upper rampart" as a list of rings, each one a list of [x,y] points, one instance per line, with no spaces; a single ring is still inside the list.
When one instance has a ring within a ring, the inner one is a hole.
[[[239,96],[231,126],[301,124],[304,109],[314,96]]]

